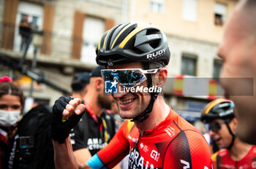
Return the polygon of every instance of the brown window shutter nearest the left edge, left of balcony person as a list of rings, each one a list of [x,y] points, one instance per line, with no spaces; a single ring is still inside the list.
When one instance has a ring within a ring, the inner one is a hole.
[[[1,34],[1,47],[12,50],[18,0],[6,0],[4,4],[4,26]]]

